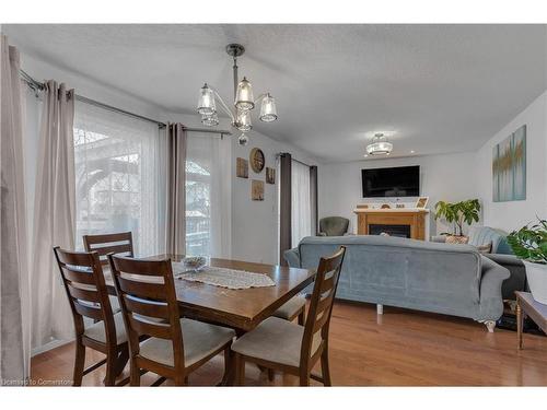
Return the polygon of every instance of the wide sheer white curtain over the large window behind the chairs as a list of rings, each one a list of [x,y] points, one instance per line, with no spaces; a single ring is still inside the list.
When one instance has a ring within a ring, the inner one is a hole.
[[[165,144],[155,124],[77,102],[75,239],[131,231],[138,256],[165,250]]]

